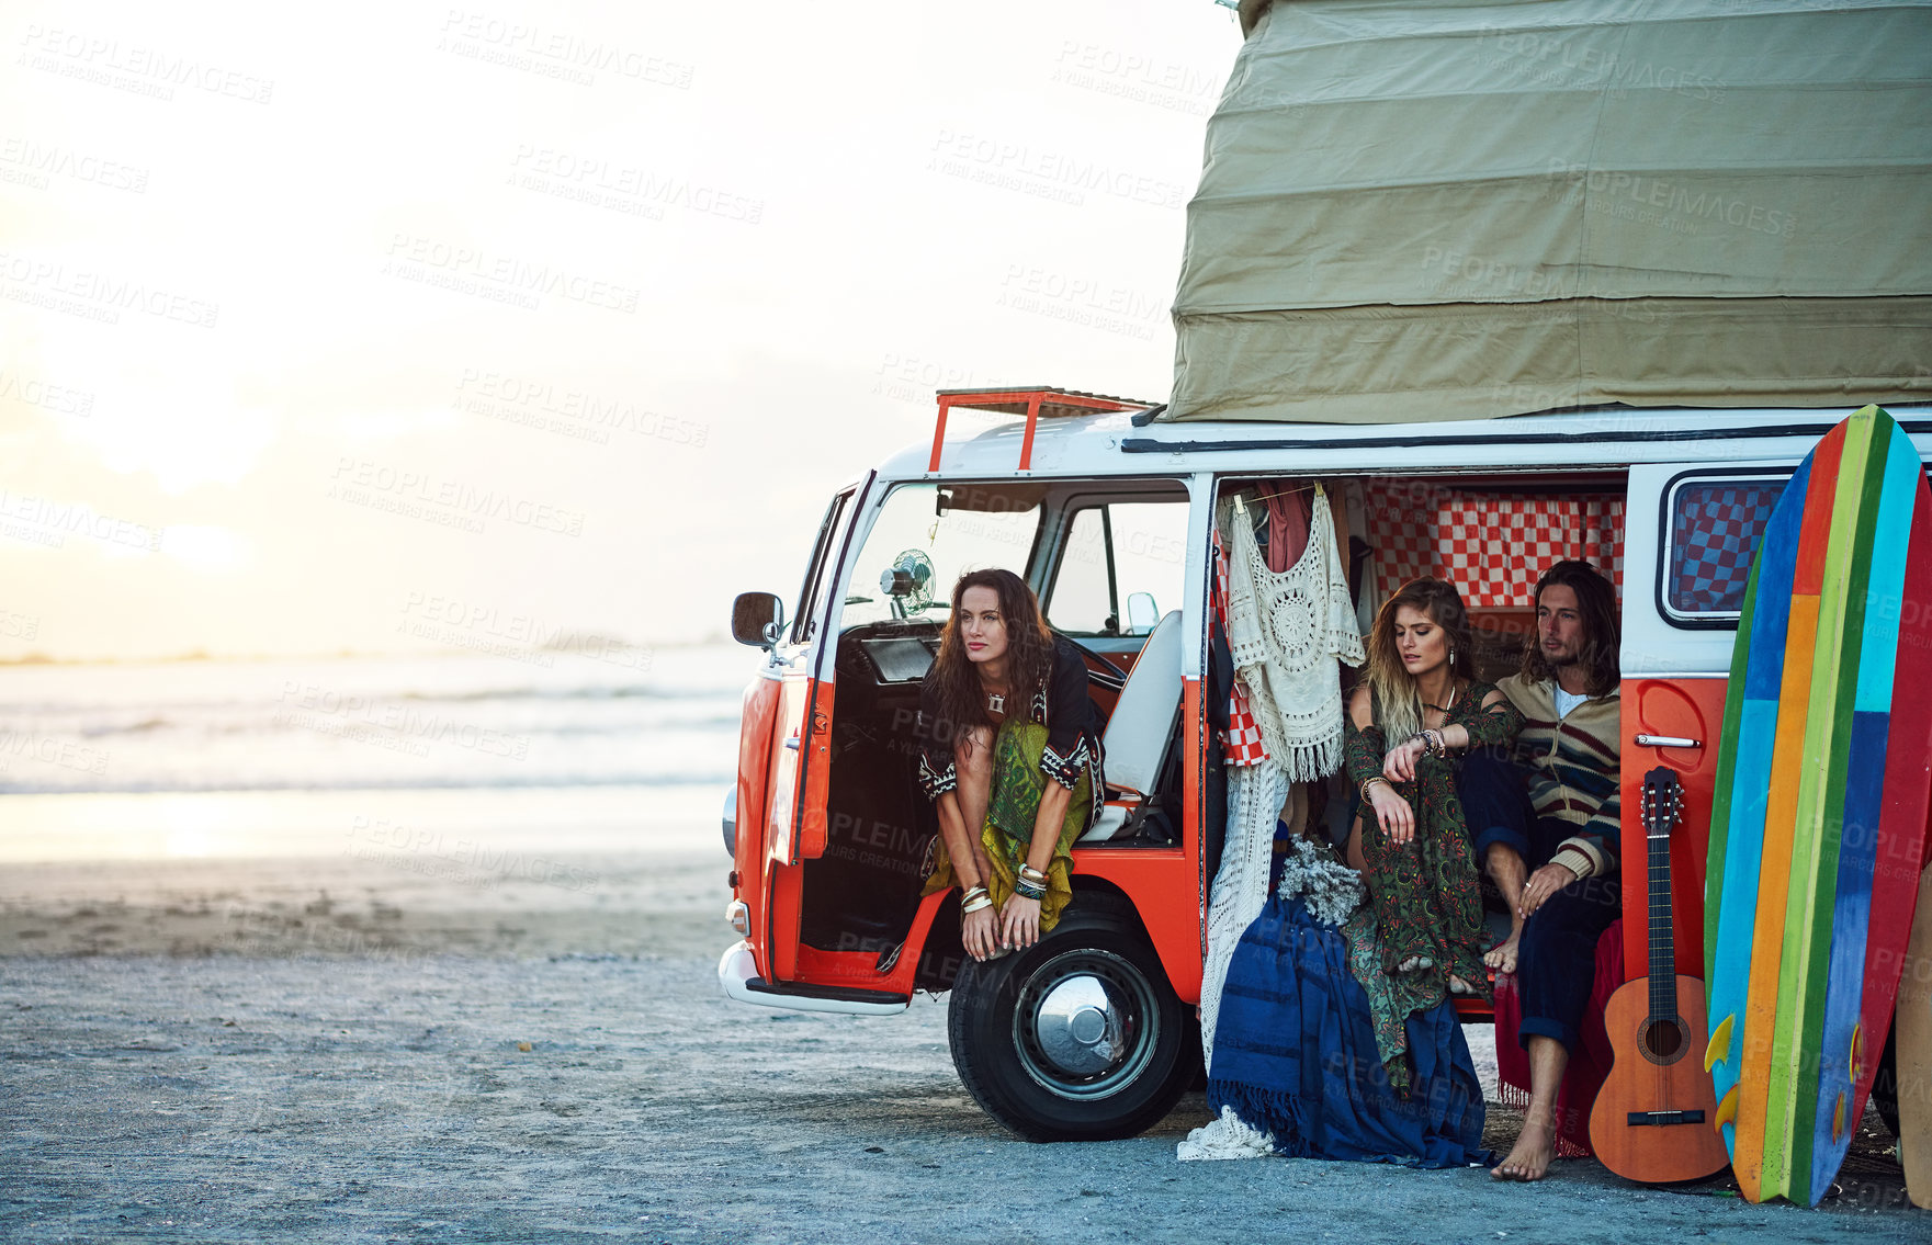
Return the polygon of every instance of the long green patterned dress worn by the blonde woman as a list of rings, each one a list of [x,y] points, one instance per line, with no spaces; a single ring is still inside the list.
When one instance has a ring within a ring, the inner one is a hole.
[[[1507,745],[1522,730],[1522,714],[1509,697],[1482,706],[1493,691],[1492,683],[1472,683],[1443,722],[1468,730],[1468,747]],[[1366,730],[1358,730],[1352,716],[1343,726],[1349,780],[1356,786],[1379,776],[1389,753],[1379,703],[1372,703],[1372,714],[1374,724]],[[1406,1083],[1406,1019],[1447,998],[1451,975],[1484,998],[1490,994],[1490,973],[1482,963],[1488,930],[1478,863],[1463,826],[1455,764],[1455,759],[1424,757],[1416,762],[1414,782],[1393,784],[1395,793],[1416,811],[1410,844],[1389,844],[1374,811],[1362,805],[1362,880],[1368,882],[1370,901],[1343,932],[1354,977],[1368,992],[1376,1017],[1376,1044],[1395,1085]],[[1428,967],[1399,967],[1418,959]]]

